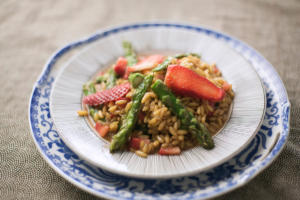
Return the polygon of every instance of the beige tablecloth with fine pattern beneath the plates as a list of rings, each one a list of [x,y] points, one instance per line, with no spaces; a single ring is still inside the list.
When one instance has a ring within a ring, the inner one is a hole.
[[[218,199],[300,198],[300,1],[0,1],[0,199],[94,199],[60,177],[31,138],[30,92],[50,55],[110,25],[172,20],[229,33],[260,51],[287,88],[291,129],[278,159]]]

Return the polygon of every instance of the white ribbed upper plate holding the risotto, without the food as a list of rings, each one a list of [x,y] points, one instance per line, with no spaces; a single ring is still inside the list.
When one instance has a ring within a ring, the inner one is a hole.
[[[231,118],[214,137],[215,148],[201,147],[179,156],[151,155],[147,159],[131,152],[109,152],[86,121],[77,116],[81,109],[82,85],[101,68],[123,55],[122,41],[133,43],[138,53],[147,51],[195,52],[215,62],[233,85],[235,99]],[[87,45],[57,76],[50,99],[50,111],[63,141],[76,154],[95,166],[139,178],[186,176],[219,165],[240,152],[255,136],[265,112],[265,94],[253,66],[225,40],[192,29],[163,26],[113,32]]]

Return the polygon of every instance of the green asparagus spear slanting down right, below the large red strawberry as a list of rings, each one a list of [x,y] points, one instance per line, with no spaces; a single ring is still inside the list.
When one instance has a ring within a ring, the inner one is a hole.
[[[196,136],[200,145],[205,149],[212,149],[214,142],[207,128],[197,121],[191,112],[184,108],[180,100],[168,89],[168,87],[161,81],[157,80],[151,86],[154,93],[165,104],[173,114],[180,119],[182,128],[189,130]]]

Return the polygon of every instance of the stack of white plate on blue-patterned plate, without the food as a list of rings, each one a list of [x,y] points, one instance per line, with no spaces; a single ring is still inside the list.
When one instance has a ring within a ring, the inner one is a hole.
[[[139,53],[195,52],[216,63],[235,92],[231,117],[215,148],[179,156],[110,154],[81,109],[82,85],[123,55],[123,40]],[[67,52],[82,51],[64,66]],[[133,24],[101,31],[54,54],[35,84],[29,106],[33,138],[46,161],[76,186],[109,199],[201,199],[235,189],[270,164],[289,131],[289,102],[273,67],[255,50],[223,33],[182,24]]]

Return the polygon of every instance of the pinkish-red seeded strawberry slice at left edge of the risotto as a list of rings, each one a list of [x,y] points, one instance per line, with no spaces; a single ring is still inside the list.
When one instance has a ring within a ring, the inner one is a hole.
[[[100,105],[106,102],[115,101],[125,96],[130,90],[130,83],[117,85],[109,90],[90,94],[83,98],[83,103],[91,106]]]

